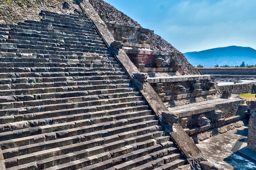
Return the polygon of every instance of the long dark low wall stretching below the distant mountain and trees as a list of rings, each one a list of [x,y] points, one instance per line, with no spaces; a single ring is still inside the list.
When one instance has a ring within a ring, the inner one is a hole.
[[[202,74],[232,74],[232,75],[256,75],[256,68],[244,67],[218,67],[218,68],[197,68]]]

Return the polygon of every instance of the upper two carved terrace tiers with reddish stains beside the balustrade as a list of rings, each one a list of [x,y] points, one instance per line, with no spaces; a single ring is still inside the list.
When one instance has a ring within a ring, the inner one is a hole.
[[[106,22],[115,40],[124,43],[124,51],[140,72],[175,72],[181,67],[180,53],[153,51],[146,44],[154,31]]]

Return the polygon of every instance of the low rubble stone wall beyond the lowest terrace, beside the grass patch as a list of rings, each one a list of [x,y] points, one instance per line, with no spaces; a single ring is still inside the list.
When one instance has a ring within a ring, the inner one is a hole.
[[[252,92],[253,83],[246,84],[234,84],[219,86],[219,92],[222,94],[224,91],[228,91],[231,94],[243,94],[245,92]]]

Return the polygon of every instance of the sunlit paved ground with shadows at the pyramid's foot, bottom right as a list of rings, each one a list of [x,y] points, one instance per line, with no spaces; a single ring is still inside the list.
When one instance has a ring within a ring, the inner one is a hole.
[[[256,170],[256,152],[247,148],[247,133],[247,126],[242,126],[199,141],[197,146],[220,170]]]

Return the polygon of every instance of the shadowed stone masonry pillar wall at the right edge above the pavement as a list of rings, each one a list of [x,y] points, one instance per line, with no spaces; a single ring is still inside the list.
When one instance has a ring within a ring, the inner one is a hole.
[[[255,110],[255,108],[256,108],[256,101],[252,101],[251,110]],[[247,147],[249,149],[256,151],[256,112],[253,112],[249,119]]]

